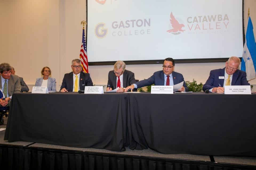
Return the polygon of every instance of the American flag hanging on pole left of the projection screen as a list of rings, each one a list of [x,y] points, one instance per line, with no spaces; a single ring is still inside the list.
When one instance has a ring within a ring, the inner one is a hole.
[[[80,50],[80,60],[81,60],[81,65],[83,67],[83,72],[89,73],[88,59],[87,59],[87,52],[86,52],[85,29],[83,29],[82,45]]]

